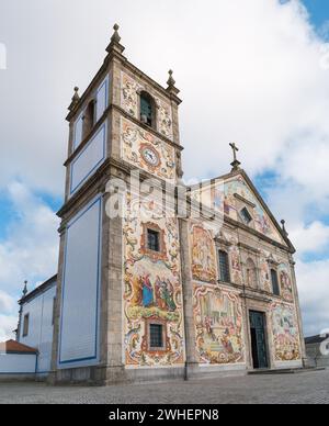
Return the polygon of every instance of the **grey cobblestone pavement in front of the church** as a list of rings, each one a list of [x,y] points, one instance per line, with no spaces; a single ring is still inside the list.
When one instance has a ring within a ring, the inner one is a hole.
[[[328,404],[329,370],[109,388],[0,383],[0,404],[15,403]]]

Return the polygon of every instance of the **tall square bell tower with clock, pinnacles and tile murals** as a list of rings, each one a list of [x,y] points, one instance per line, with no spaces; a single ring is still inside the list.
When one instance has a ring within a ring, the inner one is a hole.
[[[179,225],[159,203],[123,193],[109,214],[109,181],[181,183],[173,72],[161,87],[124,56],[118,25],[99,72],[69,105],[65,203],[50,381],[114,383],[183,371],[184,321]],[[145,204],[148,220],[134,213]]]

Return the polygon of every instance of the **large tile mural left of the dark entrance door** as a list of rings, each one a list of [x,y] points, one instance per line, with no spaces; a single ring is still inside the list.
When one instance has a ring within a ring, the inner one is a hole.
[[[245,362],[242,309],[236,293],[194,285],[194,322],[200,363]]]

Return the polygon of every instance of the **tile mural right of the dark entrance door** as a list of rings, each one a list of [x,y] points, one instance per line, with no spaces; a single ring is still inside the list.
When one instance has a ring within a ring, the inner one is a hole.
[[[300,359],[300,340],[295,307],[274,303],[271,306],[273,343],[276,361]]]

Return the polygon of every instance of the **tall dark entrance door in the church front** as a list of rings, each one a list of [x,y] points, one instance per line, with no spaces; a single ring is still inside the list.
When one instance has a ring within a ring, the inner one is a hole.
[[[266,349],[266,320],[262,312],[250,311],[251,349],[253,368],[269,368]]]

